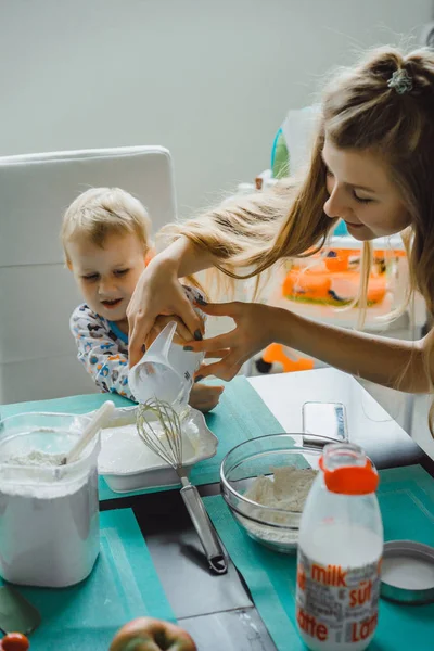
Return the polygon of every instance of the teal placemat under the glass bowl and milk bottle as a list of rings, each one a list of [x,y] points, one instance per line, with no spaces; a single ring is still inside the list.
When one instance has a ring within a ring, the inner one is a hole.
[[[411,538],[434,544],[434,480],[419,465],[380,473],[379,499],[386,540]],[[205,506],[229,556],[244,577],[279,651],[306,651],[295,625],[295,556],[273,552],[251,540],[220,496]],[[431,649],[434,604],[381,601],[380,623],[370,651]]]

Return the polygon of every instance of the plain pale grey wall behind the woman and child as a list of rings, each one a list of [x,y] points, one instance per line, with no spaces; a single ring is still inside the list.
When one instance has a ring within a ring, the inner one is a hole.
[[[163,144],[182,214],[269,163],[289,107],[432,0],[0,0],[0,155]]]

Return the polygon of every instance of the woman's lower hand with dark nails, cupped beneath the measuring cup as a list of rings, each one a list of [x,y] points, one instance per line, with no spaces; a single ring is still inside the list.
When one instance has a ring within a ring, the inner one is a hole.
[[[202,365],[196,380],[216,375],[232,380],[243,363],[275,341],[275,324],[279,309],[258,303],[220,303],[201,305],[201,309],[213,317],[230,317],[235,328],[226,334],[201,342],[191,341],[184,346],[194,353],[205,352],[207,358],[219,361]]]

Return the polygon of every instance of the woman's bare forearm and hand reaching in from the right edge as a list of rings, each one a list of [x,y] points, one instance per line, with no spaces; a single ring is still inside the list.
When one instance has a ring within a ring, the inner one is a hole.
[[[189,342],[192,350],[220,359],[203,366],[201,376],[217,375],[230,380],[241,366],[270,343],[280,343],[353,375],[411,393],[430,392],[424,367],[434,331],[419,342],[392,340],[324,326],[293,312],[251,303],[203,306],[213,316],[228,316],[235,329],[203,342]]]

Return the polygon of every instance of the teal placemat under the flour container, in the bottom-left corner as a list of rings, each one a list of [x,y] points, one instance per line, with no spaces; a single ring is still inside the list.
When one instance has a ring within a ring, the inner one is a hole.
[[[101,513],[101,553],[85,582],[55,590],[17,589],[42,616],[29,637],[31,651],[107,651],[129,620],[176,621],[130,509]]]

